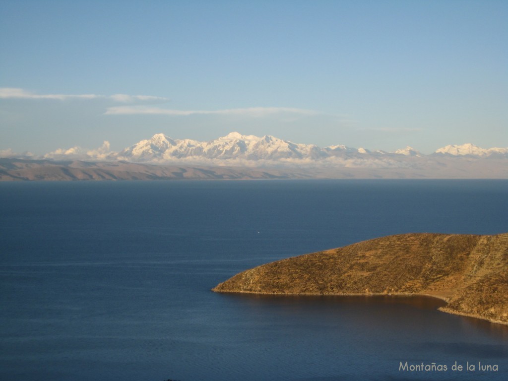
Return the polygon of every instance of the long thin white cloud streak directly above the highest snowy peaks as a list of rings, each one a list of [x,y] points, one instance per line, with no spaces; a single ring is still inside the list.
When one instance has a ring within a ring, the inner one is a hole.
[[[170,115],[170,116],[188,116],[188,115],[245,115],[263,117],[278,113],[292,113],[301,115],[314,115],[313,110],[305,110],[291,107],[247,107],[226,110],[171,110],[160,107],[131,107],[116,106],[109,107],[105,114],[107,115]]]

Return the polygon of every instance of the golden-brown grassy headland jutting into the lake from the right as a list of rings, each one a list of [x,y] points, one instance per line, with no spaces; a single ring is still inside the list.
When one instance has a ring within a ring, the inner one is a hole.
[[[441,310],[508,324],[508,233],[402,234],[268,263],[215,292],[298,295],[423,294]]]

